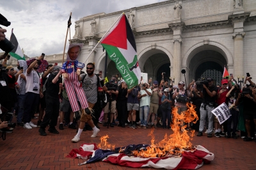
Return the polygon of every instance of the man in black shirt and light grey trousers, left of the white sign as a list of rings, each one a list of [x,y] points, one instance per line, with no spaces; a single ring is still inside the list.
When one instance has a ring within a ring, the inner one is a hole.
[[[200,107],[200,125],[199,132],[197,136],[202,136],[205,125],[206,115],[208,116],[209,125],[207,130],[207,137],[212,137],[212,129],[213,129],[213,114],[212,110],[214,110],[216,95],[218,93],[218,88],[214,86],[213,79],[207,79],[209,85],[206,86],[204,84],[203,91],[200,91],[200,96],[203,98],[203,102]]]

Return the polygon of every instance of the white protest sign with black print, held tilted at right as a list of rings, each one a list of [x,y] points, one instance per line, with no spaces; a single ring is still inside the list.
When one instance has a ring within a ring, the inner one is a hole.
[[[225,103],[216,107],[216,109],[214,109],[212,113],[218,118],[220,124],[228,120],[228,118],[231,116],[228,106]]]

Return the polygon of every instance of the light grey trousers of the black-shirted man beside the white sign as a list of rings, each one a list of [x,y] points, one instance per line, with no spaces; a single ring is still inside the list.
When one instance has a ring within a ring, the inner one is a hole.
[[[200,107],[200,126],[199,126],[199,132],[204,131],[204,123],[205,123],[205,118],[208,116],[208,134],[212,134],[212,129],[213,129],[213,114],[212,111],[214,110],[214,107],[210,107],[209,105],[204,105],[201,104]]]

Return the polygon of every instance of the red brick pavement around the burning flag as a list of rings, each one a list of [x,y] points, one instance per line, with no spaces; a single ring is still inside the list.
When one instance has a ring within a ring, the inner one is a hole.
[[[33,120],[34,123],[36,121]],[[133,169],[105,162],[77,166],[84,160],[66,158],[68,153],[73,148],[79,148],[82,143],[98,144],[99,137],[91,138],[92,131],[86,131],[82,133],[79,143],[72,143],[70,140],[76,135],[76,130],[65,127],[65,130],[59,130],[58,135],[50,134],[47,130],[46,132],[47,136],[43,137],[39,135],[38,128],[27,130],[16,127],[12,134],[6,134],[5,141],[0,139],[0,169]],[[122,127],[107,129],[100,125],[99,136],[108,134],[108,142],[117,147],[128,144],[150,144],[148,132],[150,129],[135,130]],[[154,130],[156,142],[163,139],[166,133],[171,134],[172,130],[156,128]],[[254,141],[244,142],[240,137],[239,139],[207,138],[204,134],[202,137],[193,137],[191,142],[205,146],[215,155],[211,164],[204,165],[200,169],[256,169]]]

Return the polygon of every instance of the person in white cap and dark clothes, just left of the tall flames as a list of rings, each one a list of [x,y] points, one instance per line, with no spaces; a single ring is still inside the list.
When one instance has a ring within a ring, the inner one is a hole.
[[[171,129],[170,123],[171,123],[171,96],[169,94],[169,89],[164,89],[164,95],[161,98],[161,109],[162,109],[162,122],[163,122],[163,128],[166,128],[166,119],[167,119],[167,128]],[[164,106],[164,107],[163,107]]]

